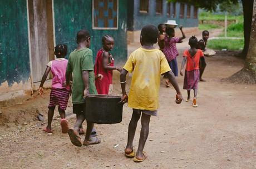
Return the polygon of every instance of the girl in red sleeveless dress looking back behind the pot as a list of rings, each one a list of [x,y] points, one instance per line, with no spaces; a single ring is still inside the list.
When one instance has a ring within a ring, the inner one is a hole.
[[[113,91],[113,70],[121,72],[121,68],[114,66],[114,58],[110,51],[114,48],[114,38],[109,35],[102,37],[102,48],[98,51],[94,66],[95,76],[102,74],[103,78],[96,78],[95,86],[98,94],[111,95]]]

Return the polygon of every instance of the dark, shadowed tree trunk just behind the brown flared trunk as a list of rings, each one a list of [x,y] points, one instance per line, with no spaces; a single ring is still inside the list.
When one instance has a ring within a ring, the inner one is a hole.
[[[250,42],[250,29],[252,26],[253,16],[253,0],[242,0],[242,3],[244,13],[244,49],[242,56],[245,58],[247,56]]]

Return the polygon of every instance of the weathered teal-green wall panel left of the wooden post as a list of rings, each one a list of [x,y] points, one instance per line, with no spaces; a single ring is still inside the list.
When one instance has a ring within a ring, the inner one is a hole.
[[[30,75],[26,0],[0,0],[0,84],[26,82]]]

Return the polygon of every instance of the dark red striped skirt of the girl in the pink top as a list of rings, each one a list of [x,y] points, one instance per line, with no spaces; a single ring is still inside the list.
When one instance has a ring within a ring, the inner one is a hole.
[[[69,97],[70,91],[66,90],[66,88],[52,89],[48,108],[58,105],[62,110],[66,110]]]

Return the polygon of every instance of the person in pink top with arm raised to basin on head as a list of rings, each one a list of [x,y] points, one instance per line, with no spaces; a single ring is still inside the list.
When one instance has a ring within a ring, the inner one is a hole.
[[[175,37],[175,31],[174,28],[166,28],[166,34],[167,36],[164,37],[164,50],[163,53],[165,54],[165,57],[169,63],[169,66],[171,70],[173,71],[175,76],[178,76],[179,69],[178,69],[178,63],[176,60],[176,57],[179,55],[178,49],[176,47],[176,43],[181,43],[183,39],[186,38],[182,26],[180,26],[180,31],[182,33],[182,37],[178,38]],[[166,87],[170,87],[169,81],[166,80]]]

